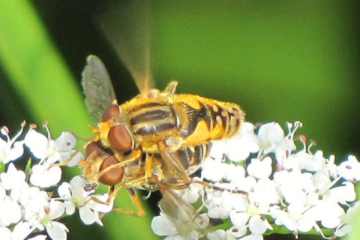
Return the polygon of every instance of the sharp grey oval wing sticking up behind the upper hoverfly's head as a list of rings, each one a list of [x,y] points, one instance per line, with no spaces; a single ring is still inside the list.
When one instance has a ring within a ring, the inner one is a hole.
[[[105,65],[97,56],[87,57],[81,84],[86,107],[94,121],[98,122],[116,96]]]

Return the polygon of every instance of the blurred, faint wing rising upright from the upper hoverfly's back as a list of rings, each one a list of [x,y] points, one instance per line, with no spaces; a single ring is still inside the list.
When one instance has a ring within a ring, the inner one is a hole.
[[[153,88],[150,0],[119,1],[100,18],[101,28],[134,78],[140,93]]]

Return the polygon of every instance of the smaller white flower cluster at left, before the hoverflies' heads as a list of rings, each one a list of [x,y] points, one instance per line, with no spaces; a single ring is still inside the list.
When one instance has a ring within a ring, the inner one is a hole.
[[[67,227],[60,220],[78,209],[85,224],[101,224],[100,215],[111,211],[106,195],[96,195],[80,176],[61,181],[61,166],[76,166],[82,159],[76,138],[63,132],[57,139],[34,126],[10,137],[0,132],[0,239],[65,240]],[[30,156],[23,170],[17,159]]]

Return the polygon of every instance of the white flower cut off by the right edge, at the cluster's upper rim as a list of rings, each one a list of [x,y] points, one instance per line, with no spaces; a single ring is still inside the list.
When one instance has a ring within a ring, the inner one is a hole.
[[[360,162],[353,155],[348,156],[348,159],[342,162],[338,167],[338,173],[341,177],[349,181],[360,180]]]

